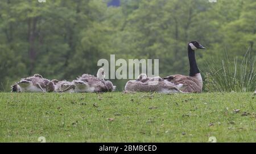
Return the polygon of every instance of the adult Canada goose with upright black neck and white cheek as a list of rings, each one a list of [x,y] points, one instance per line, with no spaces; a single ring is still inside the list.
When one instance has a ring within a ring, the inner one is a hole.
[[[183,76],[180,74],[164,77],[164,80],[170,81],[175,85],[187,85],[183,89],[184,92],[189,93],[200,93],[203,88],[203,80],[199,69],[196,64],[195,50],[196,49],[205,49],[197,41],[191,41],[188,43],[188,60],[189,60],[189,76]]]

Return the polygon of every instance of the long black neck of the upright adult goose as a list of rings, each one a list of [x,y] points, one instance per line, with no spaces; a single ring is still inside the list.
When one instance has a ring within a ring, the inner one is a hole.
[[[189,76],[193,77],[199,72],[199,69],[196,64],[195,51],[193,51],[188,45],[188,60],[189,60]]]

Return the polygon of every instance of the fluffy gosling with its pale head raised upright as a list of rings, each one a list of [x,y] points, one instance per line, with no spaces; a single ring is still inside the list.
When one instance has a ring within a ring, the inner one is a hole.
[[[97,77],[90,74],[82,74],[77,80],[72,83],[75,85],[75,92],[107,92],[114,91],[115,86],[111,81],[105,81],[105,72],[103,68],[98,69]]]

